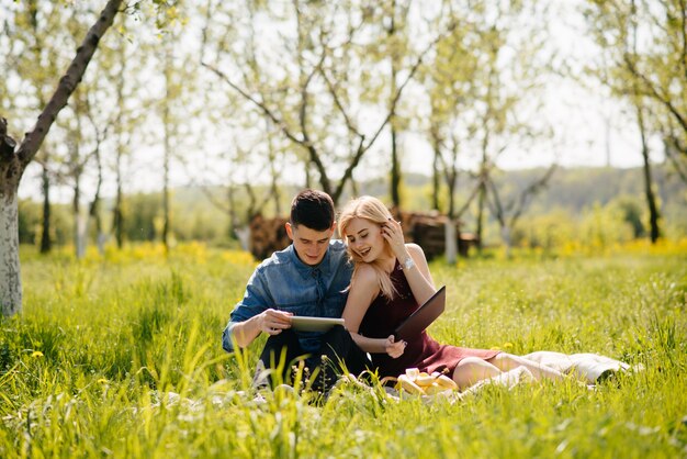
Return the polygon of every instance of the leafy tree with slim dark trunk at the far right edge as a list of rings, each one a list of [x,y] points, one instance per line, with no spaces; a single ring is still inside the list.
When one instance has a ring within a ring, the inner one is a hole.
[[[650,236],[661,235],[647,137],[661,135],[665,154],[687,181],[687,3],[684,0],[588,0],[588,30],[601,49],[589,69],[634,112],[642,141]]]

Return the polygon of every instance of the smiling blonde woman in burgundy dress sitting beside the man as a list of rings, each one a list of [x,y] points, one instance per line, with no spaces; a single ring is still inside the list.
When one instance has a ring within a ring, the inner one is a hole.
[[[356,344],[370,352],[381,377],[407,368],[453,378],[462,390],[486,378],[523,366],[536,379],[563,376],[518,356],[497,350],[440,345],[427,332],[395,342],[394,328],[436,291],[423,249],[405,244],[398,222],[376,198],[350,201],[339,217],[339,234],[353,260],[353,277],[344,310]]]

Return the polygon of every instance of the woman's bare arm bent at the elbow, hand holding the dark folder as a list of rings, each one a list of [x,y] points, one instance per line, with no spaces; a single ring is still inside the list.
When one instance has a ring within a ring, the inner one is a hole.
[[[405,344],[395,343],[394,337],[388,338],[367,338],[358,333],[360,323],[364,317],[372,301],[380,294],[380,287],[376,273],[371,267],[361,266],[351,280],[351,288],[348,292],[348,300],[344,309],[344,321],[346,328],[351,334],[353,342],[365,352],[388,354],[396,358],[403,354]]]

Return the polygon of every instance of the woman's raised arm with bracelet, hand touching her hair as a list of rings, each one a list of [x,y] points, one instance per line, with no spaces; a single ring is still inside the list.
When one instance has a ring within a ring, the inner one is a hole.
[[[437,289],[429,273],[429,266],[423,248],[417,244],[405,244],[401,223],[395,220],[390,220],[382,226],[382,235],[401,262],[413,296],[419,304],[424,304],[436,293]],[[412,261],[408,262],[408,260]]]

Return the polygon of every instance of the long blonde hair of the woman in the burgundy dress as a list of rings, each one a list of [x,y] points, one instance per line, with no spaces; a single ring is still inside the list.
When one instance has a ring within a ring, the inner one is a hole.
[[[346,242],[348,256],[353,261],[352,278],[354,279],[356,275],[358,273],[358,269],[364,261],[362,261],[362,258],[360,258],[358,254],[351,250],[348,245],[348,238],[346,237],[346,228],[353,219],[364,219],[371,223],[382,226],[384,223],[388,222],[390,219],[392,219],[392,214],[382,201],[369,195],[360,197],[358,199],[349,201],[341,210],[341,214],[339,215],[339,234],[341,235],[341,238]],[[391,250],[391,247],[385,239],[384,251],[393,256],[393,251]],[[388,272],[386,272],[384,267],[382,266],[382,261],[374,260],[368,265],[372,267],[372,269],[376,273],[380,291],[382,292],[382,294],[390,300],[394,298],[396,289],[391,281]]]

